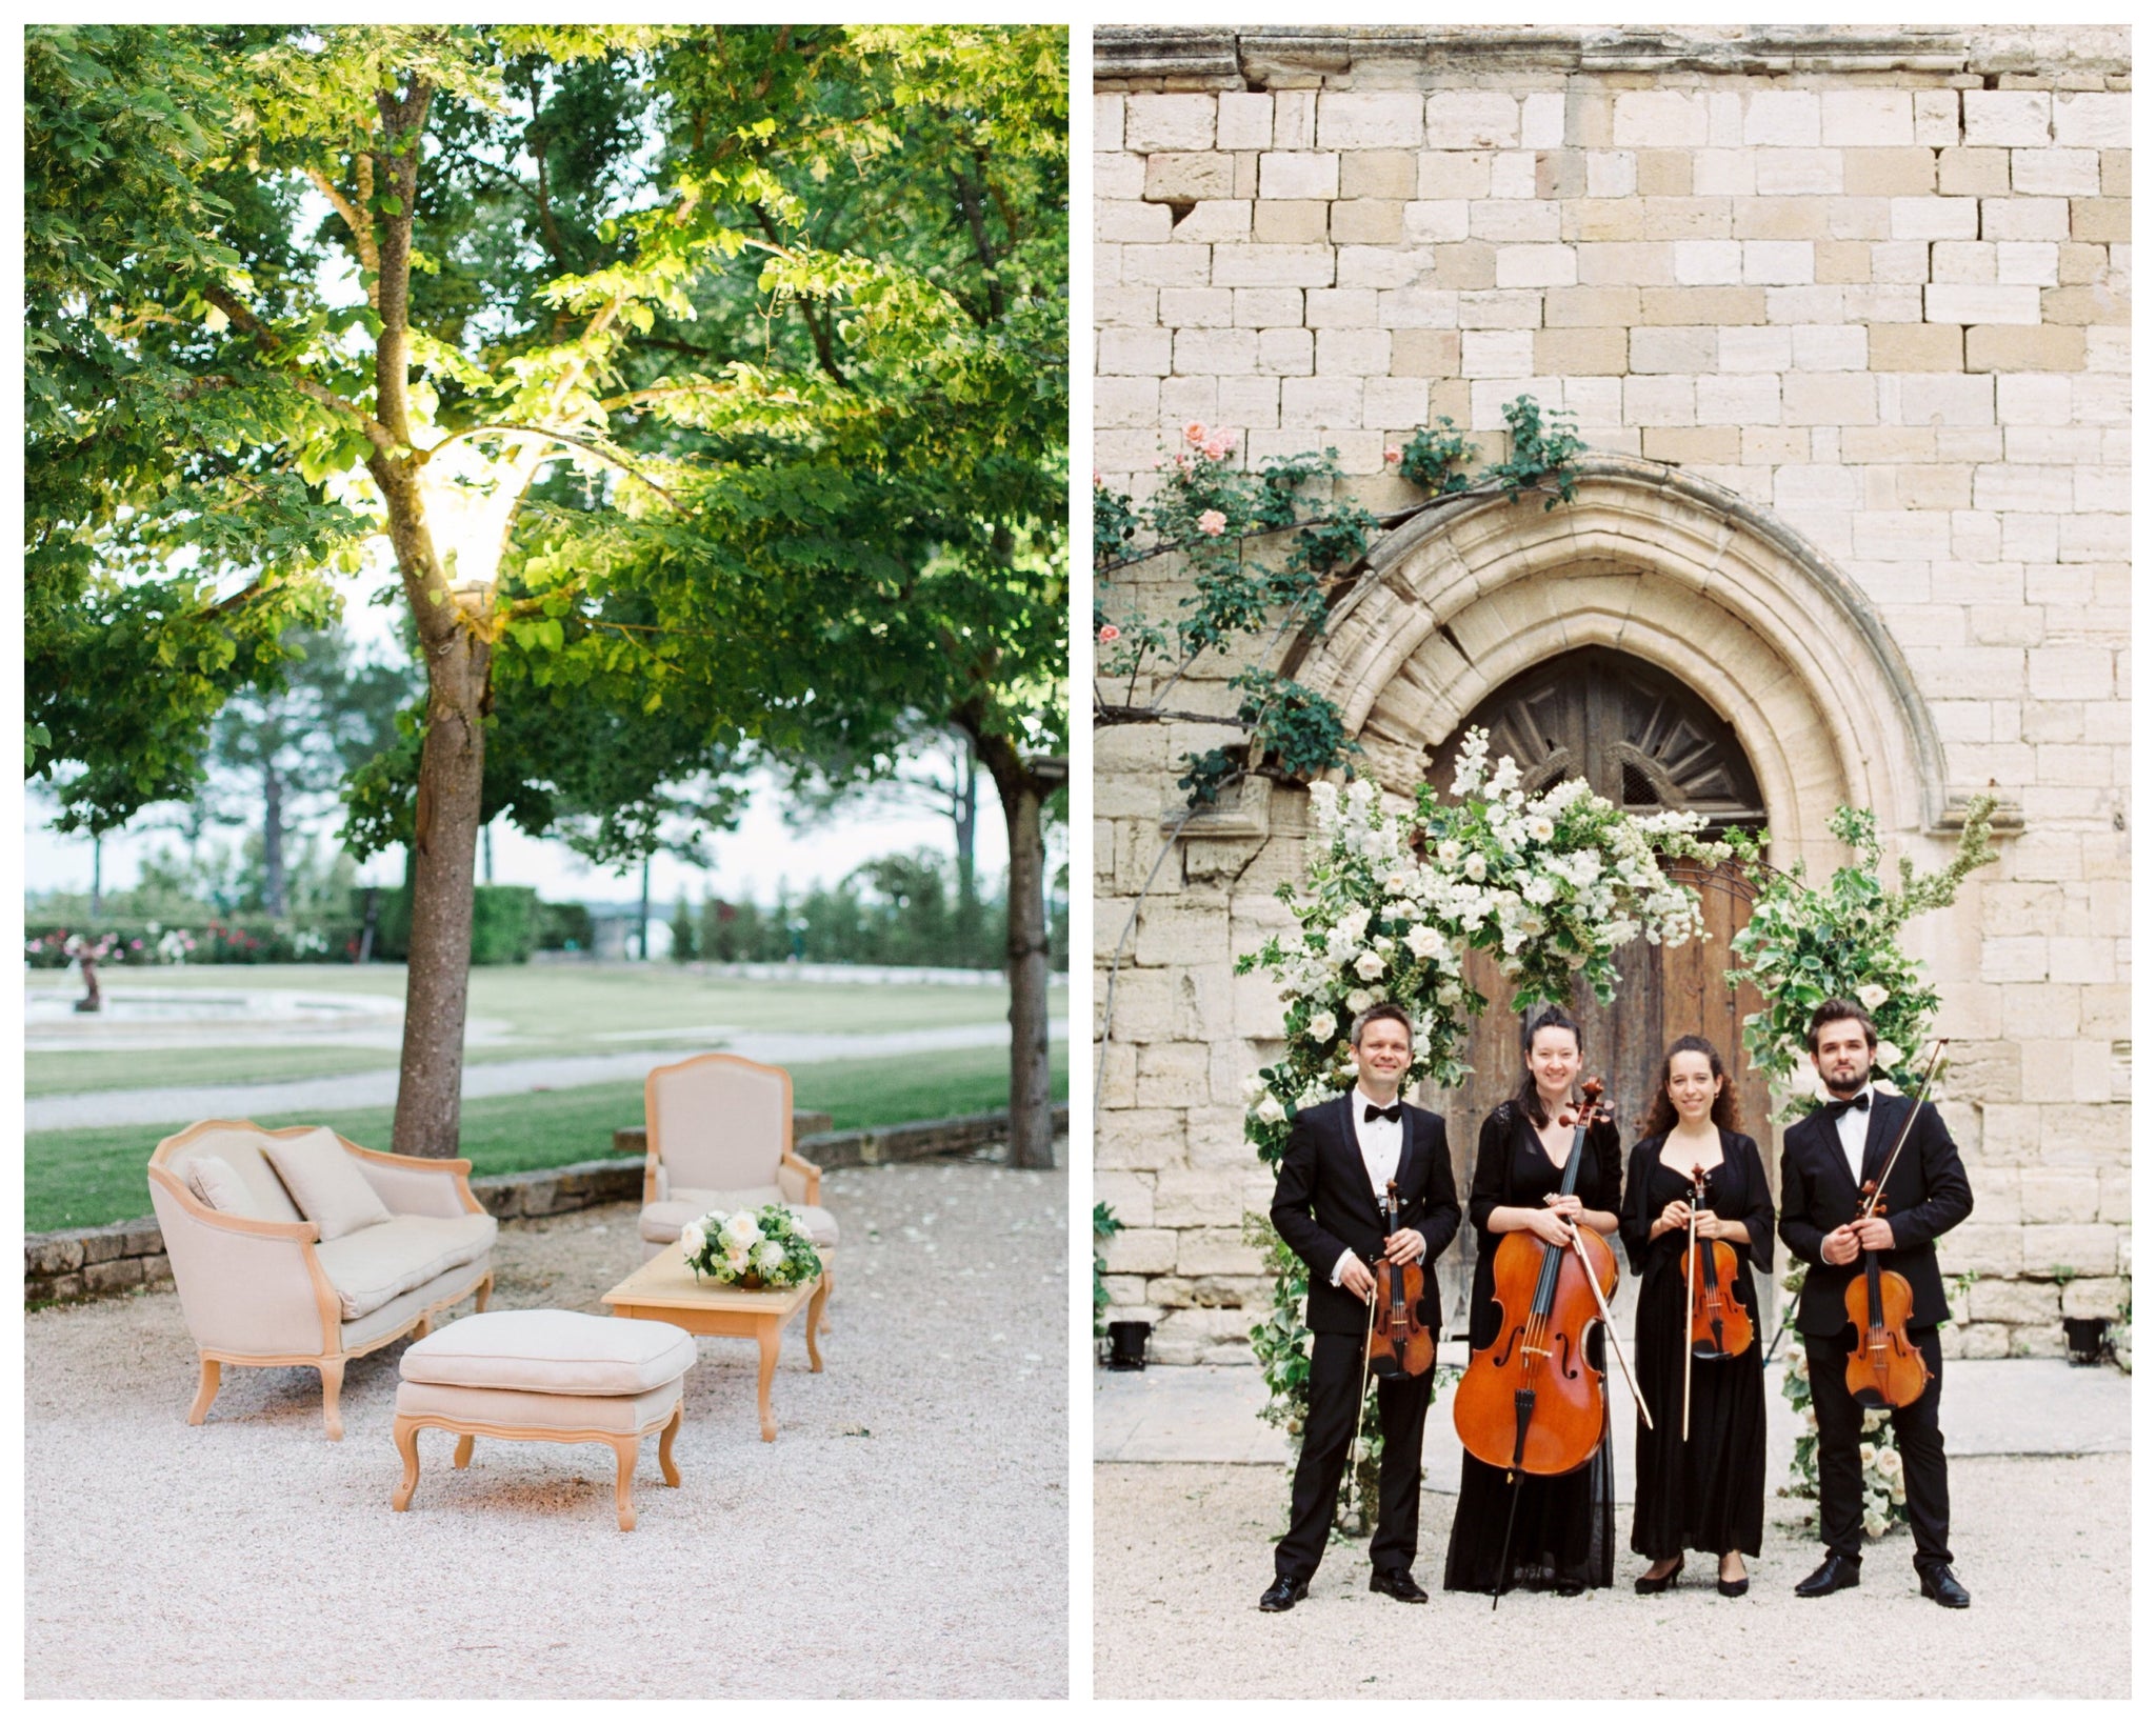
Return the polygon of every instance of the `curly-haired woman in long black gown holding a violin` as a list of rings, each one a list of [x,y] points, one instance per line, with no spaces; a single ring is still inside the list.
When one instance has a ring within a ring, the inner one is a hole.
[[[1718,1590],[1733,1599],[1751,1584],[1744,1558],[1759,1554],[1766,1517],[1766,1330],[1751,1269],[1774,1267],[1774,1196],[1759,1144],[1736,1129],[1738,1106],[1723,1056],[1705,1037],[1680,1037],[1662,1058],[1662,1090],[1647,1136],[1632,1144],[1623,1190],[1623,1246],[1639,1274],[1632,1362],[1654,1414],[1639,1431],[1632,1549],[1651,1560],[1632,1586],[1660,1593],[1684,1569],[1684,1552],[1720,1558]],[[1692,1168],[1705,1168],[1701,1250],[1727,1239],[1738,1254],[1733,1297],[1753,1321],[1742,1353],[1692,1362],[1692,1435],[1684,1437],[1688,1284],[1684,1233],[1692,1213]]]

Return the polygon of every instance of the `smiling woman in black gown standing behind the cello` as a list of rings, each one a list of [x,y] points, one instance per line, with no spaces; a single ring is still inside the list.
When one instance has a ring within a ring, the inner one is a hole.
[[[1533,1233],[1561,1246],[1567,1224],[1591,1226],[1602,1235],[1617,1231],[1623,1144],[1606,1121],[1587,1131],[1572,1196],[1557,1194],[1572,1157],[1572,1127],[1559,1125],[1557,1116],[1572,1103],[1572,1082],[1580,1075],[1580,1026],[1550,1006],[1529,1024],[1524,1054],[1526,1078],[1520,1093],[1490,1112],[1475,1151],[1475,1187],[1468,1196],[1468,1220],[1475,1222],[1468,1340],[1475,1347],[1496,1340],[1503,1308],[1494,1297],[1494,1263],[1503,1235]],[[1600,1325],[1587,1343],[1587,1358],[1602,1366]],[[1518,1515],[1514,1491],[1520,1498]],[[1445,1552],[1445,1588],[1494,1593],[1498,1562],[1505,1562],[1507,1588],[1533,1586],[1572,1597],[1589,1586],[1608,1586],[1617,1537],[1613,1502],[1606,1427],[1587,1465],[1557,1478],[1520,1474],[1507,1485],[1503,1468],[1462,1455],[1460,1508]]]

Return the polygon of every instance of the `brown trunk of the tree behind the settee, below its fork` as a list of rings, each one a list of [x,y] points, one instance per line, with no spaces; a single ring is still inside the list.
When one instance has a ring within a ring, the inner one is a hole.
[[[418,806],[412,817],[405,1034],[390,1134],[399,1155],[457,1153],[489,659],[492,646],[464,627],[427,649],[427,741],[418,756]]]

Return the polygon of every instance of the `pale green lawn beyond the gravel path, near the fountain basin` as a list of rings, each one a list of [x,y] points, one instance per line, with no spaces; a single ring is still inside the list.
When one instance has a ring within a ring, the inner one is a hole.
[[[30,972],[32,993],[73,998],[73,974]],[[207,968],[108,970],[106,991],[185,989],[237,993],[293,989],[302,993],[403,996],[403,965],[263,963]],[[1050,1009],[1067,1011],[1056,985]],[[563,1054],[621,1054],[634,1047],[707,1047],[714,1026],[787,1032],[918,1030],[946,1024],[994,1024],[1009,1013],[1000,987],[936,987],[873,983],[759,983],[703,976],[675,965],[489,965],[472,972],[470,1017],[492,1039],[466,1047],[468,1065]],[[24,1060],[26,1095],[80,1095],[170,1084],[250,1084],[280,1078],[334,1078],[351,1071],[395,1071],[384,1047],[334,1043],[246,1045],[235,1028],[229,1047],[112,1052],[39,1052]]]

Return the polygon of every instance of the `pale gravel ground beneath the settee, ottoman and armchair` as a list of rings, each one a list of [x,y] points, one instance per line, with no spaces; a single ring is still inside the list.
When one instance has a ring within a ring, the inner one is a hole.
[[[707,1338],[634,1532],[604,1446],[420,1435],[390,1511],[401,1345],[345,1377],[226,1371],[185,1424],[172,1293],[24,1321],[24,1690],[47,1696],[1061,1696],[1069,1683],[1059,1172],[826,1174],[847,1248],[808,1373],[787,1327],[757,1435],[750,1340]],[[502,1231],[496,1308],[604,1310],[632,1205]]]

